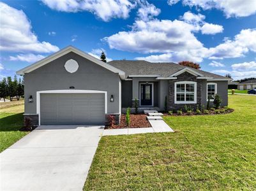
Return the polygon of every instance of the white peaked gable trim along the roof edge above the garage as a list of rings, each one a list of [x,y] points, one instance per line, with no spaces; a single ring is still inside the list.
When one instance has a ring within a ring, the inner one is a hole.
[[[50,55],[49,57],[46,57],[45,59],[39,60],[38,62],[31,64],[30,66],[20,69],[16,73],[19,75],[24,75],[25,73],[29,73],[35,69],[38,69],[39,67],[44,66],[45,64],[48,64],[49,62],[52,62],[53,60],[56,60],[57,58],[62,57],[66,53],[70,53],[70,52],[77,53],[78,55],[80,55],[88,60],[91,60],[95,64],[98,64],[102,67],[105,67],[106,69],[109,69],[109,71],[112,71],[113,73],[119,73],[120,78],[123,80],[125,78],[124,72],[121,71],[120,69],[117,69],[116,67],[111,66],[110,64],[102,62],[102,60],[96,59],[95,57],[89,55],[88,53],[82,52],[82,50],[79,50],[73,46],[67,46],[66,48],[59,50],[58,52]]]

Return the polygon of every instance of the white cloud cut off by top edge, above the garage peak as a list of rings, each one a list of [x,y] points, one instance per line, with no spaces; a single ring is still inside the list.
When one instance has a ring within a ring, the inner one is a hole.
[[[137,5],[128,0],[41,0],[52,10],[77,12],[90,11],[104,21],[111,18],[128,18],[130,10]]]

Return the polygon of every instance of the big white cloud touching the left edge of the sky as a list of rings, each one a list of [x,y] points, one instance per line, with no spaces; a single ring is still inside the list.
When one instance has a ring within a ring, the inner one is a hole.
[[[57,46],[38,41],[31,31],[31,23],[22,10],[17,10],[0,2],[1,51],[13,52],[56,52]]]

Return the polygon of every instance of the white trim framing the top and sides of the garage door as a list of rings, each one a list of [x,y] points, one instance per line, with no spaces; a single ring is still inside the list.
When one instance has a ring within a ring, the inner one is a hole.
[[[105,94],[105,114],[107,114],[107,91],[100,90],[43,90],[36,92],[36,114],[38,114],[38,125],[41,125],[40,98],[41,94]]]

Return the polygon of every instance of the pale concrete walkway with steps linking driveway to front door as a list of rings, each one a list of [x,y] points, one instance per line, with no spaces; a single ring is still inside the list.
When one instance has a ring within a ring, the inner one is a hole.
[[[174,132],[169,125],[167,125],[163,118],[161,117],[162,113],[154,112],[156,110],[144,110],[144,113],[147,113],[147,120],[152,127],[145,128],[125,128],[125,129],[104,129],[102,136],[115,136],[121,134],[139,134],[139,133],[148,133],[148,132]],[[152,115],[152,113],[154,115]]]

